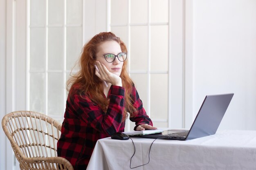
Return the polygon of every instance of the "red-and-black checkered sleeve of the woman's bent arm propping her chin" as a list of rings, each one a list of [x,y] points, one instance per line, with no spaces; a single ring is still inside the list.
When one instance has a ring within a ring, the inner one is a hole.
[[[73,109],[86,124],[104,135],[112,135],[119,131],[124,112],[125,89],[120,86],[111,86],[107,112],[94,104],[87,96],[74,95]]]

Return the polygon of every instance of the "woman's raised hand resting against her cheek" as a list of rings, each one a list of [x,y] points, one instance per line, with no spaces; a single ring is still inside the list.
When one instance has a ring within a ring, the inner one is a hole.
[[[111,73],[108,71],[104,64],[101,64],[99,61],[96,61],[97,67],[99,72],[96,70],[95,75],[97,75],[101,80],[106,82],[110,82],[112,85],[115,86],[122,86],[122,79],[118,75]]]

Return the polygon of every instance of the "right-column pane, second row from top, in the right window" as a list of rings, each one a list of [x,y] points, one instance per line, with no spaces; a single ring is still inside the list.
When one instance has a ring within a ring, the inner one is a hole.
[[[168,71],[168,25],[151,26],[151,71]]]

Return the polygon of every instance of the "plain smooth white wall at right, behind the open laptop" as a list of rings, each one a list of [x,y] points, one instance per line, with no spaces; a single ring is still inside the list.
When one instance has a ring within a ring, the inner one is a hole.
[[[256,130],[256,1],[193,1],[193,114],[235,93],[220,129]]]

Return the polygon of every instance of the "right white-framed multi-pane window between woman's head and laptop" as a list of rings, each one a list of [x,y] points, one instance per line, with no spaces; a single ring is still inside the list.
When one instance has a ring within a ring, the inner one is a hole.
[[[130,77],[147,114],[154,126],[168,127],[168,0],[111,0],[108,12],[110,31],[128,48]]]

